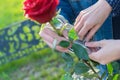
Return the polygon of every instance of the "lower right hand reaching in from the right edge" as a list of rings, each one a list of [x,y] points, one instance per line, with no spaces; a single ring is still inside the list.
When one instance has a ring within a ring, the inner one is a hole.
[[[120,40],[101,40],[97,42],[86,42],[87,47],[101,48],[89,54],[89,57],[101,64],[107,64],[120,59]]]

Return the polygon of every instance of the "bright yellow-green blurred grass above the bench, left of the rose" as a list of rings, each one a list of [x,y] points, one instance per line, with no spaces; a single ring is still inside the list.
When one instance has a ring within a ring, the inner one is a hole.
[[[23,0],[1,0],[0,1],[0,29],[13,22],[24,20],[22,10]]]

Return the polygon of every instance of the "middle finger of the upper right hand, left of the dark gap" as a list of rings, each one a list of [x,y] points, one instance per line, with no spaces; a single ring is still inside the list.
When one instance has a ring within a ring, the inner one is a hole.
[[[85,23],[84,26],[81,28],[81,30],[78,32],[78,36],[81,40],[84,39],[84,37],[89,32],[92,25],[89,25],[88,23]]]

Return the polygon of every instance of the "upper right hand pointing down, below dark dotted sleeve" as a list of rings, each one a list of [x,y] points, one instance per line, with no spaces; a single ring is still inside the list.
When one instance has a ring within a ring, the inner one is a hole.
[[[96,4],[81,11],[74,24],[79,38],[89,41],[109,16],[111,10],[106,0],[98,0]]]

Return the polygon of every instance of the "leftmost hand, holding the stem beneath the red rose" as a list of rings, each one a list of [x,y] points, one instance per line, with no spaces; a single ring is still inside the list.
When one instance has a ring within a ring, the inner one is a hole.
[[[45,28],[39,33],[40,36],[43,38],[44,42],[47,43],[47,45],[50,48],[53,48],[53,42],[56,39],[57,43],[56,43],[56,50],[60,51],[60,52],[68,52],[69,50],[67,48],[63,48],[61,46],[59,46],[59,42],[62,40],[66,40],[68,39],[67,37],[67,31],[63,31],[63,36],[58,36],[57,33],[55,33],[52,29],[51,29],[51,25],[50,24],[46,24]]]

